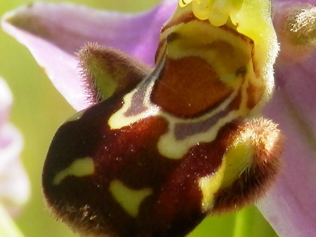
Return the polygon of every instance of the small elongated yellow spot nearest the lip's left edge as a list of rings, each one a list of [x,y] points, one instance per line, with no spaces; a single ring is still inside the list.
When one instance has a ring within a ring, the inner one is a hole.
[[[53,180],[54,185],[59,185],[67,176],[83,177],[94,173],[94,163],[92,158],[79,158],[71,163],[67,168],[58,172]]]

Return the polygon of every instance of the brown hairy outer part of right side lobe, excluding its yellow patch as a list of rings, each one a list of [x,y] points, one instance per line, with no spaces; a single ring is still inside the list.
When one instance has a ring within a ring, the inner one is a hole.
[[[230,187],[217,192],[212,214],[236,211],[256,202],[265,196],[280,172],[283,136],[277,125],[265,118],[238,123],[238,136],[249,130],[253,133],[253,161]]]

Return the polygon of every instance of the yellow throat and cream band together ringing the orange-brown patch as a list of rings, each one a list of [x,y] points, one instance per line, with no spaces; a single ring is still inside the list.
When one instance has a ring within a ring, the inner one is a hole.
[[[183,2],[186,3],[189,1]],[[158,151],[166,158],[180,159],[196,144],[202,142],[212,142],[216,139],[218,131],[225,124],[238,117],[251,116],[251,113],[257,112],[263,105],[263,102],[261,103],[260,101],[265,100],[264,98],[262,99],[261,96],[265,97],[266,95],[262,95],[262,93],[260,93],[260,96],[258,96],[255,101],[257,102],[257,105],[251,109],[247,107],[247,88],[249,87],[249,83],[251,83],[254,87],[262,87],[264,83],[263,80],[257,78],[254,72],[255,69],[252,64],[253,43],[251,40],[247,40],[241,35],[237,36],[232,33],[233,30],[234,27],[232,28],[229,25],[226,28],[215,28],[194,20],[185,24],[174,25],[169,29],[166,29],[160,37],[160,40],[167,39],[167,36],[171,33],[177,33],[179,38],[167,42],[167,50],[163,51],[163,53],[167,52],[167,56],[172,59],[188,56],[201,57],[214,67],[216,73],[219,75],[219,79],[222,82],[234,89],[231,96],[222,102],[217,108],[202,115],[201,117],[189,119],[179,118],[173,116],[172,114],[168,114],[163,110],[159,110],[159,107],[150,101],[151,89],[155,83],[153,79],[157,78],[160,72],[159,69],[156,71],[156,74],[153,74],[151,77],[145,79],[145,81],[153,80],[151,84],[148,83],[148,85],[146,85],[144,82],[140,83],[134,91],[125,95],[122,108],[112,115],[108,121],[111,129],[120,129],[123,126],[128,126],[140,119],[151,116],[161,116],[168,121],[169,125],[168,131],[162,134],[158,139]],[[197,36],[201,35],[202,37],[196,37],[195,35],[192,35],[192,32],[196,32],[198,33]],[[181,37],[187,37],[190,40],[181,40]],[[230,45],[231,48],[225,47],[226,44]],[[231,53],[229,51],[231,51]],[[225,64],[227,61],[230,63]],[[158,63],[158,66],[161,67],[161,64]],[[237,74],[237,70],[240,67],[244,67],[244,75]],[[133,95],[142,86],[147,86],[146,96],[143,101],[143,105],[147,108],[147,110],[137,114],[136,116],[125,116],[125,112],[132,107]],[[211,89],[212,88],[210,88],[210,93]],[[230,103],[238,96],[239,92],[241,94],[241,101],[238,108],[228,111],[227,114],[219,118],[213,126],[210,126],[207,129],[205,128],[205,130],[201,132],[188,135],[184,139],[176,138],[175,128],[177,124],[203,122],[216,116],[221,111],[229,108]]]

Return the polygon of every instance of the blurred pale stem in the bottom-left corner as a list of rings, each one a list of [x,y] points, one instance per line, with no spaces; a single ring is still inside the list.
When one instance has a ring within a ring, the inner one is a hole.
[[[0,205],[0,236],[24,237],[2,205]]]

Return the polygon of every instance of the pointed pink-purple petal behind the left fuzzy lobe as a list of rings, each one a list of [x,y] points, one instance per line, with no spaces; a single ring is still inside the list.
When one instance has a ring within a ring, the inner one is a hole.
[[[160,29],[176,5],[175,0],[164,0],[150,11],[122,14],[37,2],[7,13],[2,28],[29,48],[60,93],[81,110],[86,104],[74,52],[91,41],[153,65]]]

